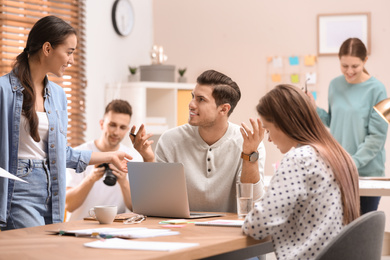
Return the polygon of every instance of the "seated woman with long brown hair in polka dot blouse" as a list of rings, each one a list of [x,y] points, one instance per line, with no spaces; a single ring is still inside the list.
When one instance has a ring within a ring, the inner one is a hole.
[[[257,111],[258,127],[285,155],[242,230],[271,236],[277,259],[314,259],[359,216],[357,169],[299,88],[276,86]]]

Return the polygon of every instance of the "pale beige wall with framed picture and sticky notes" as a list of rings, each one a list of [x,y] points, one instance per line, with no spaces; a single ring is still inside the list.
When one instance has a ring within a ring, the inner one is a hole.
[[[154,42],[164,46],[168,64],[188,67],[189,82],[209,68],[237,81],[242,100],[231,121],[239,124],[256,117],[255,105],[266,92],[266,57],[316,54],[317,14],[371,12],[372,54],[366,67],[390,94],[388,10],[388,0],[154,0]],[[327,107],[329,81],[339,74],[336,56],[319,57],[320,106]],[[272,174],[271,164],[281,154],[273,145],[266,148],[266,174]],[[386,148],[389,169],[389,141]],[[380,207],[387,204],[390,200],[382,198]],[[390,219],[390,211],[387,215]]]

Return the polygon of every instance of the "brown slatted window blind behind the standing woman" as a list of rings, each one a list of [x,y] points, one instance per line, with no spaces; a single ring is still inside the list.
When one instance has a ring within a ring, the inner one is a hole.
[[[78,32],[74,64],[62,77],[49,80],[65,90],[68,100],[68,145],[84,143],[85,122],[85,0],[0,0],[0,75],[9,73],[16,56],[26,45],[32,26],[40,18],[55,15]]]

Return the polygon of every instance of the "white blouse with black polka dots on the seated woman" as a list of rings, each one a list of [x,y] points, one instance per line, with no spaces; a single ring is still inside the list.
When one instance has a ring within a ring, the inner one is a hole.
[[[277,259],[314,259],[342,223],[341,192],[333,172],[305,145],[286,153],[242,229],[255,239],[271,235]]]

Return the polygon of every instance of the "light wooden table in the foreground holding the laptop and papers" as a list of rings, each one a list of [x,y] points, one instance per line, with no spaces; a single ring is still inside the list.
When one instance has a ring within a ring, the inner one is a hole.
[[[223,219],[237,219],[228,213]],[[206,221],[219,218],[199,219]],[[125,225],[113,223],[100,225],[97,221],[73,221],[33,228],[0,232],[0,259],[243,259],[273,251],[269,238],[254,240],[243,235],[239,227],[195,226],[186,224],[183,228],[171,228],[179,235],[137,239],[137,241],[166,241],[199,243],[199,246],[171,252],[135,251],[117,249],[87,248],[84,243],[96,238],[51,235],[47,231],[76,230],[101,227],[163,228],[158,222],[166,218],[147,218],[140,224]]]

